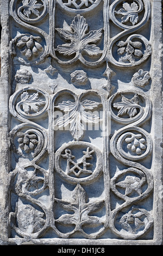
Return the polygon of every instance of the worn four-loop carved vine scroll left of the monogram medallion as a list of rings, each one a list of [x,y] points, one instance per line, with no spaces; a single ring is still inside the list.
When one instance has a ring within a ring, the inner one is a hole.
[[[18,198],[9,223],[27,239],[39,237],[48,222],[49,209],[37,199],[48,188],[48,172],[38,164],[47,152],[47,131],[37,124],[37,117],[46,113],[47,106],[47,94],[36,88],[18,90],[10,97],[10,113],[21,124],[10,131],[11,149],[19,164],[9,174],[11,194]],[[28,222],[22,217],[24,212]]]

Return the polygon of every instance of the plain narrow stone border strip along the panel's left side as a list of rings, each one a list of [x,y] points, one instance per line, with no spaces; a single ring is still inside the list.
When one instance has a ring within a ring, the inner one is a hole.
[[[1,1],[1,80],[0,80],[0,245],[8,243],[8,170],[9,170],[9,0]]]

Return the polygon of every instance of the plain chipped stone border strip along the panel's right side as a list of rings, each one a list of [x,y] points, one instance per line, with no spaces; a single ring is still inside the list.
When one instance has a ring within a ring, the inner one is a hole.
[[[162,186],[162,148],[161,143],[163,139],[162,131],[162,63],[161,54],[158,53],[159,45],[162,44],[162,11],[161,1],[152,1],[152,40],[153,45],[152,53],[152,86],[151,86],[151,99],[153,103],[153,116],[152,116],[152,132],[154,134],[153,141],[153,177],[154,177],[154,204],[153,204],[153,217],[154,217],[154,241],[157,245],[163,244],[163,198],[159,198],[159,187]]]

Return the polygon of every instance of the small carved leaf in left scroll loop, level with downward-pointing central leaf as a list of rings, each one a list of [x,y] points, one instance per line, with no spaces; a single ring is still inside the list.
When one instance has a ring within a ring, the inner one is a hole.
[[[21,105],[23,107],[23,111],[29,114],[30,110],[34,112],[39,111],[39,106],[44,105],[45,101],[39,99],[38,93],[33,93],[29,95],[27,92],[23,92],[21,95]]]

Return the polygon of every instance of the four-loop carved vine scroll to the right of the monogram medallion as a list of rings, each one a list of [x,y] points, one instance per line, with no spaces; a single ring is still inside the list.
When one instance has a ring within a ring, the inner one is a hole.
[[[112,96],[110,100],[112,101],[116,96]],[[134,101],[125,99],[110,105],[117,108],[120,104],[121,112],[118,113],[122,116],[123,114],[125,116],[125,113],[130,114],[131,109],[134,111]],[[124,239],[137,239],[153,225],[152,215],[139,206],[139,203],[148,198],[153,190],[152,172],[140,163],[152,153],[152,139],[147,131],[139,127],[151,116],[151,102],[147,99],[145,101],[146,107],[143,112],[141,107],[140,112],[133,112],[133,123],[131,120],[127,123],[122,121],[126,126],[115,132],[110,141],[112,155],[124,166],[129,167],[118,171],[110,180],[111,191],[124,200],[124,203],[111,211],[110,228]],[[135,110],[137,103],[135,102]],[[134,118],[136,115],[138,118]],[[113,112],[112,118],[120,121]]]

